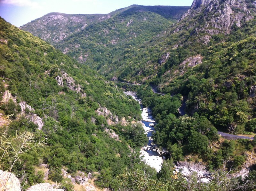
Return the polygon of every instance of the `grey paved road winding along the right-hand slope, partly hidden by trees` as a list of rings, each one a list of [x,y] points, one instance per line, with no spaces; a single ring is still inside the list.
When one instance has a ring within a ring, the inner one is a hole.
[[[127,83],[127,82],[120,82],[120,83],[130,84],[130,83]],[[131,85],[141,85],[141,84],[131,84]],[[157,92],[156,89],[153,88],[153,87],[151,87],[151,89],[152,89],[153,93],[156,93],[156,94],[159,94],[159,95],[165,95],[164,93]],[[185,108],[186,108],[186,100],[183,99],[183,101],[181,103],[181,106],[178,108],[178,111],[179,111],[180,115],[183,116],[183,115],[186,114]],[[251,140],[253,140],[253,137],[233,135],[233,134],[225,133],[225,132],[222,132],[222,131],[218,131],[218,133],[222,137],[231,137],[231,138],[236,138],[236,139],[251,139]]]

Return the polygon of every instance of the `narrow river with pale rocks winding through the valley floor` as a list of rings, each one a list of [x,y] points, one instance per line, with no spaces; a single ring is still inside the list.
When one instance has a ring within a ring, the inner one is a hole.
[[[152,133],[155,131],[154,124],[155,120],[151,114],[151,110],[148,107],[143,107],[141,104],[141,100],[137,97],[136,92],[124,92],[126,95],[132,96],[133,99],[139,101],[140,107],[142,110],[142,124],[145,132],[148,136],[148,145],[141,148],[140,154],[143,157],[145,163],[149,166],[156,169],[157,172],[161,170],[162,163],[164,161],[163,157],[160,156],[160,153],[154,147],[154,143],[152,140]]]

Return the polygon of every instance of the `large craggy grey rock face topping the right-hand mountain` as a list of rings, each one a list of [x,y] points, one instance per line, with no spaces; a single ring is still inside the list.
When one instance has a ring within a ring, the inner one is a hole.
[[[256,1],[253,4],[256,5]],[[191,8],[181,17],[181,20],[194,17],[198,13],[204,14],[204,18],[202,18],[205,21],[204,26],[200,28],[195,28],[193,24],[186,26],[186,28],[177,26],[173,33],[181,29],[194,28],[194,33],[197,34],[200,32],[206,32],[209,36],[219,33],[229,34],[233,24],[240,27],[242,21],[245,22],[253,18],[253,14],[248,9],[248,2],[245,0],[194,0]],[[204,36],[200,42],[207,44],[210,39],[209,36]]]

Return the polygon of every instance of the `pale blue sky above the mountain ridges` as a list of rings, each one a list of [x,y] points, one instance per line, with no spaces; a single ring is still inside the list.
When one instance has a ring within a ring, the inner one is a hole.
[[[132,4],[191,6],[192,2],[193,0],[0,0],[0,16],[20,27],[50,12],[105,14]]]

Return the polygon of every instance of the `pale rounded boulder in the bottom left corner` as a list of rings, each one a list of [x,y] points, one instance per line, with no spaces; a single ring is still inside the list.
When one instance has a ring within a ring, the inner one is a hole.
[[[0,170],[0,190],[20,191],[20,181],[11,172]]]

